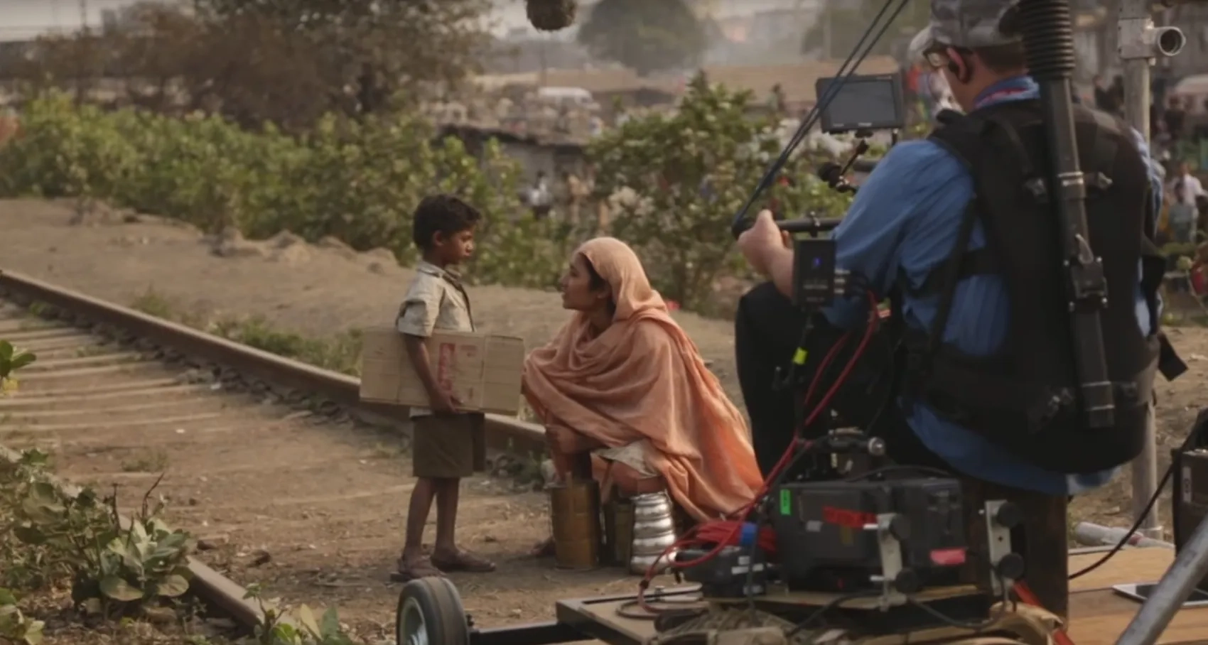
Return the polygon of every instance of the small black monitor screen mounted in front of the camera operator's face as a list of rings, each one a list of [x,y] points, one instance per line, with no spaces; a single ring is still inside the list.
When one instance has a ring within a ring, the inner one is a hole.
[[[835,79],[819,79],[818,100]],[[893,76],[850,76],[821,114],[823,130],[893,129],[905,126],[901,91]]]

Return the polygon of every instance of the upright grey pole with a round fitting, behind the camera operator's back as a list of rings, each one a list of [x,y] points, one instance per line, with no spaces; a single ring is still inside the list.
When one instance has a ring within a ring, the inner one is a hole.
[[[1152,6],[1152,0],[1121,0],[1117,27],[1117,46],[1125,71],[1125,118],[1146,141],[1150,139],[1150,68],[1158,57],[1175,56],[1186,43],[1186,37],[1178,28],[1154,25],[1150,16]],[[1146,424],[1144,448],[1133,460],[1132,475],[1133,521],[1136,521],[1157,492],[1157,423],[1152,406]],[[1162,538],[1157,505],[1142,522],[1139,533],[1145,538]]]

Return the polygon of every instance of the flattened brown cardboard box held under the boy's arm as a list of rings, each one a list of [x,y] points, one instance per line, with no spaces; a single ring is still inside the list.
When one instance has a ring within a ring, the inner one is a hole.
[[[516,414],[521,407],[524,341],[439,331],[428,339],[432,376],[472,412]],[[394,327],[364,332],[361,401],[428,407],[428,391],[411,367],[402,335]]]

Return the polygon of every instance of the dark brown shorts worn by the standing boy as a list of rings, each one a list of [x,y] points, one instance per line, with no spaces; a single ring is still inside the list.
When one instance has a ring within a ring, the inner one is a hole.
[[[429,414],[411,423],[414,477],[454,480],[487,470],[482,414]]]

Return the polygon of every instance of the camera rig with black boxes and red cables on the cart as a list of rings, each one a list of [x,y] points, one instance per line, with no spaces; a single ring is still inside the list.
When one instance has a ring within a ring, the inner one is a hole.
[[[837,225],[815,217],[780,222],[795,233],[794,303],[807,320],[836,298],[865,294],[859,279],[836,267],[826,234]],[[878,325],[876,303],[870,308],[850,364]],[[777,387],[813,390],[823,378],[830,355],[814,383],[806,383],[809,329],[802,333]],[[745,600],[798,624],[858,621],[865,631],[902,633],[994,620],[994,606],[1007,606],[1023,575],[1023,558],[1011,546],[1021,510],[968,498],[947,472],[888,463],[882,438],[842,426],[829,408],[844,374],[813,411],[802,406],[797,438],[736,539],[697,540],[675,554],[673,566],[699,583],[709,603]],[[807,429],[817,438],[806,438]],[[795,469],[801,461],[805,467]]]

